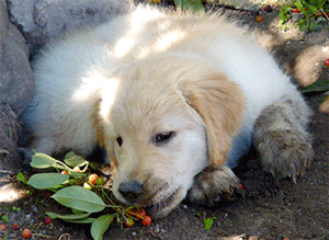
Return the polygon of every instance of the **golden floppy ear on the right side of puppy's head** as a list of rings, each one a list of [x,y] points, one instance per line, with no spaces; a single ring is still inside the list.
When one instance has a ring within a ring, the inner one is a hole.
[[[226,161],[232,136],[237,133],[245,110],[240,87],[223,73],[207,73],[198,80],[179,84],[188,104],[203,118],[207,130],[208,155],[213,164]]]

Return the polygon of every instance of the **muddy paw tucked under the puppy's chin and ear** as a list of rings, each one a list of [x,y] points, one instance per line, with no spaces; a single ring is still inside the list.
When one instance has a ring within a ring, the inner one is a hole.
[[[220,196],[230,197],[239,184],[239,179],[228,167],[212,165],[195,176],[188,197],[193,203],[212,206]]]

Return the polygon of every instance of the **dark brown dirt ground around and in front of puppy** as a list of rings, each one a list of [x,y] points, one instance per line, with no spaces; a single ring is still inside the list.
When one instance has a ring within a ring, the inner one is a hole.
[[[300,33],[291,25],[291,30],[283,33],[277,27],[277,10],[259,12],[264,16],[260,23],[254,20],[256,12],[226,12],[229,19],[242,25],[262,30],[260,43],[273,52],[296,82],[306,85],[319,79],[329,80],[329,69],[324,66],[329,58],[328,30]],[[292,23],[294,21],[290,21]],[[154,220],[148,227],[137,224],[122,229],[113,225],[104,239],[329,239],[329,115],[319,112],[324,94],[308,94],[306,98],[315,112],[310,132],[314,134],[316,155],[309,171],[298,178],[297,184],[264,173],[258,164],[257,152],[251,150],[241,165],[235,169],[245,185],[245,197],[213,208],[184,202],[168,217]],[[0,172],[0,215],[8,213],[9,217],[7,230],[0,230],[0,239],[23,239],[21,231],[24,228],[44,235],[33,236],[32,239],[91,239],[90,225],[60,220],[54,220],[52,226],[42,225],[44,212],[63,212],[61,207],[44,193],[26,194],[15,184],[13,175]],[[12,210],[12,206],[21,209]],[[209,217],[216,219],[212,229],[206,230],[203,219]],[[5,222],[0,219],[1,224]],[[20,230],[12,230],[12,224],[18,224]]]

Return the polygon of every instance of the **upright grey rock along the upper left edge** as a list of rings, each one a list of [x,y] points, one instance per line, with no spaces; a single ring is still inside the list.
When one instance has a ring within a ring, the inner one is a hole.
[[[29,48],[19,30],[8,20],[0,0],[0,103],[8,103],[20,115],[34,93]]]

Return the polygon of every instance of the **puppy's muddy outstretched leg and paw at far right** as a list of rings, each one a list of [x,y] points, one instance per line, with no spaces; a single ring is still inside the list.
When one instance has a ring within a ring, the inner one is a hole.
[[[296,182],[309,167],[314,151],[306,127],[311,113],[298,92],[264,108],[253,129],[253,144],[265,171]]]

